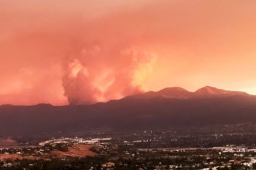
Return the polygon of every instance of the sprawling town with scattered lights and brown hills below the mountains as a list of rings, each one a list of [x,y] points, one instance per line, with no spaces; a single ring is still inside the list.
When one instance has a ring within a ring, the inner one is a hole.
[[[255,169],[254,126],[15,138],[22,145],[0,147],[0,169]]]

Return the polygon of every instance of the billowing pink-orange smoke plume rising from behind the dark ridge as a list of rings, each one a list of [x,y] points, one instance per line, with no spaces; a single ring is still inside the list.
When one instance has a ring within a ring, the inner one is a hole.
[[[91,104],[138,94],[152,72],[154,53],[93,43],[70,52],[62,85],[69,104]]]

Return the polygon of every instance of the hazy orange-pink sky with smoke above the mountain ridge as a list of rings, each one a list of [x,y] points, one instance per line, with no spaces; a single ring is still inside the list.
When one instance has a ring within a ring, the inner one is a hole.
[[[2,0],[0,104],[91,104],[165,87],[256,95],[254,0]]]

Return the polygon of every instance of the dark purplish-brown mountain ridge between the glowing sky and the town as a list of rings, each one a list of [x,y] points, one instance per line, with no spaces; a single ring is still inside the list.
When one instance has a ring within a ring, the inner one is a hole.
[[[222,94],[223,91],[217,92]],[[254,95],[224,92],[224,95],[214,93],[211,97],[194,97],[194,94],[171,87],[91,105],[3,105],[0,106],[0,137],[57,136],[89,129],[129,131],[249,121],[256,123]],[[187,95],[191,97],[185,98]]]

